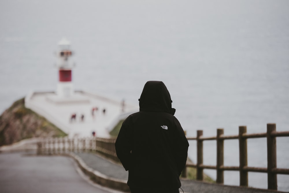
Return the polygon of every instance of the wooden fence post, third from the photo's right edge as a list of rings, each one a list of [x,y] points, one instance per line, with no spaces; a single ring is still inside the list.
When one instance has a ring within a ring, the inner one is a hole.
[[[224,139],[220,139],[224,134],[224,129],[217,129],[217,183],[224,183],[224,170],[221,169],[224,166]]]

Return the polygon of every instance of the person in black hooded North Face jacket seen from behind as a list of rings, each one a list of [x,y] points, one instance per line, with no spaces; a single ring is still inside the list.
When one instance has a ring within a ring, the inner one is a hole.
[[[123,122],[116,155],[129,171],[131,193],[176,193],[188,156],[188,140],[174,115],[168,89],[148,81],[139,99],[140,111]]]

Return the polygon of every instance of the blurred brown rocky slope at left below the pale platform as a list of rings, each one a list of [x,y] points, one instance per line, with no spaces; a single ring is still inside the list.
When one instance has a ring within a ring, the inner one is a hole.
[[[0,116],[0,146],[31,137],[62,137],[66,134],[44,117],[25,108],[24,98]]]

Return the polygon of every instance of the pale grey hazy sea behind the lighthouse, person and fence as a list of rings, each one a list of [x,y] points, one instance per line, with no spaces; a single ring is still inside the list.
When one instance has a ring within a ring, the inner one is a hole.
[[[66,36],[76,89],[138,105],[145,82],[162,80],[188,136],[289,130],[288,13],[286,0],[0,1],[0,112],[29,91],[56,89],[54,54]],[[289,168],[288,145],[277,139],[280,168]],[[225,141],[225,165],[238,160],[238,141]],[[204,163],[216,164],[214,141],[204,142]],[[248,164],[266,167],[266,139],[248,139]],[[250,186],[266,181],[249,173]],[[225,172],[225,184],[238,183],[238,172]],[[288,184],[278,175],[279,190]]]

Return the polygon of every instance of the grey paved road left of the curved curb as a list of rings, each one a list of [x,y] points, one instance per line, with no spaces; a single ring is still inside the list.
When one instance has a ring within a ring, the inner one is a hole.
[[[0,153],[0,192],[120,193],[89,182],[72,158]]]

